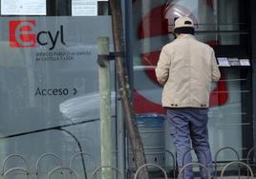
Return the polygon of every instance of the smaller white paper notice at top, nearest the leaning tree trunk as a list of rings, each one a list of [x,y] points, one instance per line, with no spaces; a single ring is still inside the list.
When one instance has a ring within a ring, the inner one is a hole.
[[[73,16],[96,16],[97,0],[72,0]]]

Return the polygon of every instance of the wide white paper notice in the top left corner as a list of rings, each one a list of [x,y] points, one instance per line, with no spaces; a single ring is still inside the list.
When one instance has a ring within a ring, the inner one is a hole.
[[[46,0],[1,0],[1,15],[46,15]]]

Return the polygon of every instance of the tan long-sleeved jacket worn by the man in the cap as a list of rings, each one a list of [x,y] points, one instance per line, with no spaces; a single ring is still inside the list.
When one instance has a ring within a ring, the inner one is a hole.
[[[190,34],[162,48],[156,74],[162,106],[169,108],[207,108],[211,82],[221,77],[214,50]]]

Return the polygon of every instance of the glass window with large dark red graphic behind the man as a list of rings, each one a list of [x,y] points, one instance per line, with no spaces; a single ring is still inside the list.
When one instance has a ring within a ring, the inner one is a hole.
[[[164,114],[161,108],[162,88],[157,82],[155,67],[163,45],[174,39],[174,19],[189,16],[195,22],[195,36],[212,47],[248,46],[245,24],[245,5],[239,0],[134,0],[133,1],[133,64],[134,64],[134,106],[137,114]],[[232,50],[231,50],[232,51]],[[247,50],[248,51],[248,50]],[[225,57],[239,57],[230,50],[224,50]],[[245,54],[244,57],[248,57]],[[243,146],[243,131],[249,128],[243,116],[245,95],[250,89],[242,84],[249,78],[241,76],[241,70],[222,69],[222,79],[212,85],[210,95],[209,130],[213,153],[230,146],[240,154]],[[216,132],[217,131],[217,132]],[[235,140],[230,140],[234,138]],[[169,149],[170,137],[167,137]],[[231,160],[234,155],[224,153],[220,160]]]

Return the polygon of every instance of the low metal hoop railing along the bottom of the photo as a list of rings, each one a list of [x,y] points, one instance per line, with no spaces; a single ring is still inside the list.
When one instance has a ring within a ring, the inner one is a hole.
[[[228,149],[228,150],[231,150],[232,152],[235,153],[236,155],[236,158],[235,160],[231,160],[232,162],[229,162],[227,163],[226,165],[223,165],[222,168],[220,168],[217,164],[217,159],[218,159],[218,156],[220,154],[221,151],[225,150],[225,149]],[[240,157],[239,157],[239,153],[237,152],[236,149],[233,149],[233,148],[230,148],[230,147],[225,147],[223,149],[219,149],[216,153],[215,153],[215,160],[213,161],[214,163],[214,178],[224,178],[224,173],[226,173],[226,171],[230,170],[230,166],[234,166],[234,165],[238,165],[238,169],[235,169],[235,168],[232,168],[230,171],[232,171],[231,174],[235,173],[233,171],[238,171],[236,172],[237,173],[237,176],[240,178],[242,175],[241,175],[241,168],[244,167],[244,170],[243,170],[243,177],[246,175],[247,178],[253,178],[254,176],[254,173],[253,173],[253,169],[251,169],[251,167],[249,166],[249,157],[251,155],[251,153],[255,150],[256,148],[252,148],[252,149],[249,149],[248,152],[247,152],[247,158],[246,158],[246,163],[243,162],[243,161],[240,161]],[[206,173],[206,177],[207,178],[210,178],[210,172],[209,172],[209,169],[206,165],[206,163],[203,162],[202,163],[196,163],[196,162],[191,162],[191,163],[188,163],[188,164],[184,164],[184,157],[191,151],[192,149],[189,149],[188,151],[186,151],[184,153],[184,156],[183,156],[183,166],[182,168],[180,169],[179,171],[179,174],[178,174],[178,177],[176,177],[176,162],[177,162],[177,159],[176,159],[176,156],[169,150],[164,150],[164,152],[167,152],[168,154],[171,155],[171,158],[172,158],[172,163],[170,163],[172,166],[172,169],[173,169],[173,175],[171,176],[171,172],[170,172],[170,176],[169,178],[172,178],[172,179],[180,179],[182,178],[182,173],[184,172],[184,169],[186,168],[193,168],[195,166],[197,166],[198,168],[201,169],[206,169],[205,173]],[[56,166],[55,168],[53,168],[52,170],[50,171],[47,171],[47,179],[51,179],[53,178],[53,174],[57,174],[57,172],[59,172],[60,175],[63,175],[66,174],[66,178],[71,178],[71,179],[74,179],[74,178],[77,178],[77,179],[84,179],[84,176],[83,176],[83,173],[79,173],[77,172],[77,170],[75,170],[75,158],[79,155],[86,155],[88,156],[88,158],[90,160],[90,164],[91,166],[93,167],[92,168],[92,172],[90,172],[90,174],[88,175],[88,177],[90,179],[95,179],[96,178],[96,175],[98,174],[98,171],[100,169],[112,169],[114,171],[116,171],[117,173],[115,174],[115,177],[117,179],[122,179],[123,178],[123,173],[115,168],[115,167],[112,167],[112,166],[103,166],[103,167],[98,167],[96,168],[96,160],[94,159],[94,157],[90,154],[90,153],[86,153],[86,152],[77,152],[75,153],[74,155],[72,155],[72,157],[70,158],[70,162],[68,163],[68,167],[65,167],[62,160],[61,160],[61,157],[54,154],[54,153],[45,153],[45,154],[42,154],[41,156],[38,157],[38,159],[36,160],[36,164],[35,164],[35,169],[30,169],[29,167],[29,164],[28,164],[28,161],[25,159],[25,157],[23,157],[22,155],[19,155],[19,154],[10,154],[8,155],[4,160],[3,160],[3,166],[2,166],[2,173],[1,173],[1,176],[0,176],[0,179],[8,179],[10,178],[11,176],[14,176],[14,175],[20,175],[20,176],[23,176],[23,177],[27,177],[28,179],[31,179],[31,178],[36,178],[36,179],[39,179],[38,175],[39,175],[39,166],[40,166],[40,163],[42,162],[43,159],[45,159],[46,157],[53,157],[54,160],[56,160],[58,166]],[[16,162],[16,166],[11,168],[11,169],[7,169],[7,163],[11,160],[15,158],[18,162]],[[170,158],[168,159],[170,160]],[[21,162],[23,163],[21,163]],[[88,163],[88,161],[86,161]],[[206,159],[205,159],[206,161]],[[131,178],[134,178],[134,179],[137,179],[138,177],[138,174],[139,174],[139,170],[142,169],[142,168],[145,168],[145,167],[154,167],[154,168],[157,168],[157,169],[160,169],[161,172],[163,172],[163,175],[162,175],[162,178],[164,179],[167,179],[168,178],[168,174],[167,174],[167,169],[170,169],[170,168],[167,168],[167,167],[163,167],[163,166],[160,166],[158,164],[153,164],[153,163],[147,163],[141,167],[139,167],[139,169],[137,169],[136,171],[133,172],[133,174],[131,174]],[[219,170],[218,170],[219,169]],[[63,171],[68,171],[68,174],[67,172],[63,172]],[[217,174],[217,171],[219,171]],[[244,171],[247,171],[247,173],[245,173]],[[79,176],[80,174],[80,176]],[[228,173],[230,174],[230,173]],[[161,175],[161,174],[160,174]],[[42,177],[42,179],[46,179],[46,176]]]

